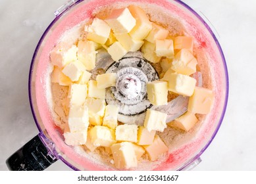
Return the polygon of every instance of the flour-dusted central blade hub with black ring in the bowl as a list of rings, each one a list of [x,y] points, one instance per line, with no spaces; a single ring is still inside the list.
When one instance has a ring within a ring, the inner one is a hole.
[[[116,86],[106,90],[106,102],[116,104],[119,114],[137,115],[152,106],[147,100],[146,85],[148,81],[158,80],[159,76],[155,68],[141,56],[140,52],[128,53],[106,71],[118,76]]]

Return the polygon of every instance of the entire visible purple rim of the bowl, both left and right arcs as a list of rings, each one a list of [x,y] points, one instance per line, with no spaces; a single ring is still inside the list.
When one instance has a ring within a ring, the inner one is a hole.
[[[70,8],[74,7],[78,3],[81,3],[82,1],[84,1],[84,0],[76,1],[72,6],[70,6],[68,9],[64,10],[63,12],[61,12],[61,14],[58,14],[53,19],[53,21],[49,24],[49,26],[46,28],[45,32],[43,32],[43,35],[39,39],[38,45],[36,46],[36,49],[35,49],[33,57],[32,57],[32,62],[30,64],[30,72],[29,72],[29,76],[28,76],[28,97],[29,97],[29,101],[30,101],[30,108],[32,110],[32,116],[34,118],[34,121],[35,121],[36,126],[38,127],[38,130],[39,130],[40,133],[43,133],[43,131],[42,131],[41,127],[38,124],[38,120],[36,118],[36,112],[34,110],[34,106],[33,106],[33,103],[32,103],[33,100],[32,100],[32,89],[31,88],[32,88],[32,73],[33,73],[33,68],[34,68],[34,62],[35,62],[36,56],[38,54],[39,47],[41,46],[41,43],[43,42],[43,39],[45,38],[45,36],[49,32],[49,30],[52,28],[52,26],[59,20],[59,18],[61,18],[61,16],[63,16],[64,13],[66,13]],[[223,66],[224,66],[224,74],[226,76],[226,95],[225,95],[224,106],[223,106],[223,109],[222,109],[222,114],[221,114],[220,120],[218,122],[218,126],[216,127],[215,131],[213,132],[213,135],[212,135],[211,139],[205,145],[205,147],[203,147],[203,149],[201,149],[199,151],[199,153],[194,158],[192,158],[186,164],[184,164],[184,166],[182,166],[181,168],[178,168],[178,171],[181,171],[181,170],[184,170],[186,167],[190,166],[190,164],[192,164],[192,162],[197,160],[201,156],[201,154],[203,154],[203,152],[205,152],[205,150],[209,147],[209,145],[211,144],[211,142],[213,141],[213,139],[217,135],[218,129],[220,129],[220,126],[221,126],[222,121],[224,119],[224,114],[226,112],[226,107],[227,107],[227,104],[228,104],[229,78],[228,78],[228,68],[227,68],[227,65],[226,65],[226,59],[224,57],[224,53],[222,51],[222,48],[220,47],[220,43],[218,42],[217,37],[215,36],[215,34],[213,33],[213,31],[211,30],[209,25],[205,22],[205,20],[203,20],[203,18],[197,12],[195,12],[189,5],[187,5],[183,1],[180,1],[180,0],[171,0],[171,1],[176,1],[176,3],[182,5],[183,7],[188,9],[190,12],[192,12],[203,23],[203,25],[207,28],[209,33],[213,36],[213,39],[215,40],[215,43],[217,44],[218,51],[220,52],[220,55],[221,55],[221,58],[222,58],[222,63],[223,63]],[[47,145],[45,145],[45,146],[47,147]],[[64,164],[66,164],[72,170],[78,170],[78,168],[72,166],[72,164],[70,164],[68,161],[66,161],[63,158],[63,156],[59,156],[59,155],[55,155],[55,156],[57,156],[57,158],[59,158],[61,161],[63,161]]]

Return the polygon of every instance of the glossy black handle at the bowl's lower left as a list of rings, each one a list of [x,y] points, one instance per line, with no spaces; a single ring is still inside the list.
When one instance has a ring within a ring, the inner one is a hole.
[[[36,135],[26,145],[14,152],[6,160],[7,167],[13,171],[42,171],[56,162],[49,154],[49,150]]]

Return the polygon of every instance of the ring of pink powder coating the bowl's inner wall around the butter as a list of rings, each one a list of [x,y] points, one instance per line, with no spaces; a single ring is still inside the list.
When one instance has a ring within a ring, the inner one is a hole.
[[[116,1],[90,1],[88,3],[80,3],[80,6],[78,6],[77,9],[70,9],[68,13],[64,14],[63,18],[60,18],[60,22],[54,25],[51,31],[45,37],[43,47],[41,47],[41,50],[39,50],[38,53],[39,60],[38,57],[36,58],[38,66],[37,68],[34,68],[34,70],[36,70],[36,103],[38,104],[38,111],[41,121],[43,122],[47,133],[55,143],[57,149],[62,152],[63,155],[68,157],[66,160],[72,160],[72,163],[75,163],[73,165],[81,170],[83,168],[86,168],[86,170],[115,170],[115,168],[100,164],[97,162],[97,160],[81,156],[75,152],[72,147],[68,147],[64,143],[62,132],[57,126],[55,126],[53,121],[53,116],[51,110],[49,109],[49,105],[47,104],[47,95],[45,93],[47,85],[45,80],[47,77],[45,76],[49,76],[49,74],[46,73],[47,68],[49,67],[49,53],[66,30],[80,24],[80,22],[83,22],[84,20],[90,19],[93,11],[97,11],[100,9],[100,7],[107,7],[113,3],[116,3]],[[183,143],[180,145],[180,147],[177,146],[175,149],[173,149],[172,152],[168,154],[166,160],[161,160],[161,162],[163,162],[162,164],[155,164],[153,168],[144,168],[145,170],[176,170],[180,168],[182,164],[185,164],[188,162],[188,160],[193,158],[193,156],[198,154],[203,147],[205,147],[207,142],[210,141],[211,135],[213,135],[218,121],[220,120],[220,114],[224,104],[224,95],[226,93],[222,58],[215,41],[211,37],[211,34],[207,32],[206,28],[199,20],[194,19],[194,15],[188,13],[188,10],[180,6],[178,3],[164,0],[118,1],[118,5],[128,5],[133,3],[139,3],[141,5],[145,3],[145,5],[149,5],[149,9],[150,6],[163,7],[166,13],[173,14],[174,17],[180,17],[182,24],[184,24],[184,27],[186,27],[185,34],[187,33],[195,37],[195,55],[200,55],[200,51],[203,49],[205,58],[207,58],[207,60],[203,59],[201,62],[208,62],[210,71],[208,68],[201,68],[201,70],[208,75],[210,80],[213,79],[210,83],[206,83],[205,85],[211,86],[215,91],[215,102],[211,113],[205,117],[199,132],[191,141]],[[205,66],[205,64],[202,66]]]

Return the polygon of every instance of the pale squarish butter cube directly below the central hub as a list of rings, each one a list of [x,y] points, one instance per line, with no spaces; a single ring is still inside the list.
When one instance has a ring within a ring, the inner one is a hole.
[[[116,141],[137,142],[138,126],[120,125],[116,127]]]

